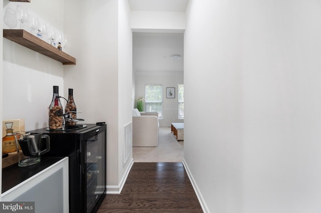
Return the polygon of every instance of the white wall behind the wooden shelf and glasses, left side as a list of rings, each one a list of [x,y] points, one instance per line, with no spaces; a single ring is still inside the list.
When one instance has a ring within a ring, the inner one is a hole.
[[[4,11],[17,4],[63,32],[63,0],[45,5],[4,0]],[[59,94],[64,92],[62,63],[3,38],[3,79],[3,119],[25,118],[26,130],[47,127],[53,85],[59,86]]]

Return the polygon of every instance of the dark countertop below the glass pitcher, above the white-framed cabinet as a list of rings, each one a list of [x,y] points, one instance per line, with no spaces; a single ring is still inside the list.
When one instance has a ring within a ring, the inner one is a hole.
[[[27,167],[19,167],[18,163],[2,169],[2,193],[18,185],[38,172],[58,162],[64,157],[41,156],[39,163]]]

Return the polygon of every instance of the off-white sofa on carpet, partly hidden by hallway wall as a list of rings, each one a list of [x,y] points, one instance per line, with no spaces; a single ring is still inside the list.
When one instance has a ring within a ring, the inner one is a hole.
[[[158,145],[158,113],[132,110],[132,146]]]

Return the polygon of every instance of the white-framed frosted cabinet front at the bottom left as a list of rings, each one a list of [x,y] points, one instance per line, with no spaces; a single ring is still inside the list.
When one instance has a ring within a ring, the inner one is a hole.
[[[35,213],[69,211],[68,157],[2,193],[1,201],[34,201]]]

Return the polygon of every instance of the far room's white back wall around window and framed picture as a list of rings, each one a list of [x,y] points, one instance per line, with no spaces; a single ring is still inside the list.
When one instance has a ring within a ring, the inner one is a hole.
[[[184,72],[143,72],[136,74],[136,97],[145,96],[146,84],[163,85],[163,119],[159,119],[160,126],[170,126],[172,122],[184,122],[178,119],[178,84],[184,84]],[[166,98],[166,87],[175,87],[175,98]]]

